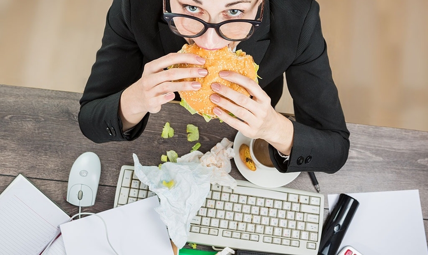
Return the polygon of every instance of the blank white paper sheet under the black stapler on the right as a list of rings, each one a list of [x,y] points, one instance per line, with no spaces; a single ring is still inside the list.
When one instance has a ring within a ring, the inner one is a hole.
[[[418,190],[347,194],[360,205],[339,250],[351,245],[363,255],[428,255]],[[328,195],[331,212],[339,195]]]

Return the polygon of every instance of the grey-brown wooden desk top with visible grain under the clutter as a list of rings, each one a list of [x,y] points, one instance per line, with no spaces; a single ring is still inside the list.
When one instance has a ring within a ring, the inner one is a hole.
[[[100,186],[95,205],[83,212],[113,208],[120,167],[133,165],[136,153],[145,165],[158,165],[167,150],[189,152],[186,124],[199,127],[200,151],[223,137],[233,141],[236,131],[225,123],[206,123],[178,104],[167,104],[152,114],[143,135],[132,142],[96,144],[79,130],[80,93],[0,85],[0,192],[23,173],[69,214],[78,208],[66,200],[67,182],[74,160],[85,151],[101,160]],[[170,122],[175,136],[161,138]],[[317,173],[323,194],[418,189],[425,234],[428,232],[428,132],[347,124],[351,132],[349,159],[335,174]],[[244,179],[232,161],[231,175]],[[315,191],[308,174],[300,174],[287,187]],[[325,215],[328,215],[327,196]],[[428,236],[428,235],[427,235]]]

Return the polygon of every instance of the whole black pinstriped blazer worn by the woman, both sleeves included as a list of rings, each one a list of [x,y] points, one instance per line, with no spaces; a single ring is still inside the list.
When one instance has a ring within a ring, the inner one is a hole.
[[[271,158],[281,171],[335,172],[346,162],[349,131],[332,79],[319,5],[313,0],[264,1],[261,26],[237,48],[260,65],[259,84],[273,105],[282,93],[282,74],[286,74],[296,116],[293,147],[285,164],[272,146]],[[177,52],[185,43],[163,20],[162,0],[114,0],[80,101],[83,134],[97,143],[139,137],[149,114],[131,134],[123,134],[120,96],[141,78],[146,63]]]

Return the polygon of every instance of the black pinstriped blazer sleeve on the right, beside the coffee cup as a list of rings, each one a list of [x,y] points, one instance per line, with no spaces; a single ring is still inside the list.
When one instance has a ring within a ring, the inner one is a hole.
[[[271,158],[281,172],[334,173],[346,162],[349,131],[333,82],[319,5],[312,1],[302,27],[296,58],[285,72],[293,98],[296,121],[288,161],[270,146]]]

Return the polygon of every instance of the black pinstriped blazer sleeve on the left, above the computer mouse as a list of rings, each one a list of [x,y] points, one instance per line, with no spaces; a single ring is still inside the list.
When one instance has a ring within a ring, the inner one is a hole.
[[[79,127],[96,143],[136,139],[148,121],[149,114],[129,134],[124,134],[118,114],[123,90],[138,81],[143,71],[143,55],[129,29],[129,13],[128,1],[113,1],[102,45],[80,100]]]

